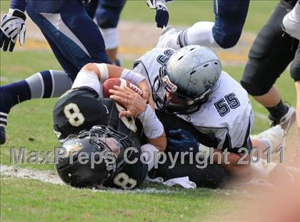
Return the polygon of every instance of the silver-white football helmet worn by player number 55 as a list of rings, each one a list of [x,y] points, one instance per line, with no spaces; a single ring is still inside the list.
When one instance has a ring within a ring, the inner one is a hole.
[[[165,65],[161,66],[159,88],[165,89],[164,98],[154,91],[154,101],[159,109],[171,113],[188,114],[199,109],[221,75],[221,61],[205,46],[185,46],[174,52]],[[166,92],[182,102],[166,99]]]

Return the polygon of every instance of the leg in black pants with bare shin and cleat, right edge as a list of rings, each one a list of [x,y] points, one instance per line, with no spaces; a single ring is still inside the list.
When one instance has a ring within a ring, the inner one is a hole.
[[[254,99],[268,109],[273,125],[291,125],[294,109],[281,101],[273,87],[276,79],[294,59],[298,41],[281,29],[281,20],[289,4],[276,6],[267,24],[259,31],[249,52],[249,61],[244,69],[241,85]],[[284,56],[283,56],[284,55]]]

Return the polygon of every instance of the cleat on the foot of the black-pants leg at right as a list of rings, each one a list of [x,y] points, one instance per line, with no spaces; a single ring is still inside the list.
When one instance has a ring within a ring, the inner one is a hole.
[[[282,116],[281,118],[274,118],[273,116],[269,115],[269,119],[271,120],[271,126],[280,125],[284,129],[284,133],[288,133],[289,128],[295,123],[296,121],[296,111],[293,107],[288,106],[287,113]]]

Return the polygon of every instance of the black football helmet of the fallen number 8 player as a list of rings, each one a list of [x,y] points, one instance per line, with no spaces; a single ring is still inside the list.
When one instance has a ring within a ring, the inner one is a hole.
[[[121,171],[126,165],[124,150],[134,146],[124,133],[107,126],[94,126],[91,130],[81,131],[74,138],[62,143],[61,151],[64,151],[64,156],[58,158],[56,171],[61,180],[71,186],[97,188]],[[94,155],[96,152],[101,157]],[[82,154],[86,160],[84,163],[82,159],[79,160]],[[129,151],[127,156],[131,154]],[[95,163],[94,168],[91,164],[92,158],[100,162]]]

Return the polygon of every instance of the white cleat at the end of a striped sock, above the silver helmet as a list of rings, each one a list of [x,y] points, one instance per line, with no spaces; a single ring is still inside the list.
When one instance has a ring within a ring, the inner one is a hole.
[[[177,43],[177,40],[174,41],[174,36],[179,36],[181,30],[176,29],[173,26],[168,26],[161,33],[159,37],[159,42],[157,43],[157,48],[171,48],[171,49],[180,49],[181,47]],[[178,38],[176,38],[178,39]]]

